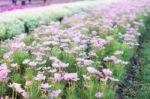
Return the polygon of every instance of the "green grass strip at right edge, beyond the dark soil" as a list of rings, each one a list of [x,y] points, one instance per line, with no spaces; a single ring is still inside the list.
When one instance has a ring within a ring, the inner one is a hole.
[[[147,20],[147,31],[144,34],[144,48],[140,50],[142,58],[142,71],[140,89],[137,91],[138,99],[149,99],[150,97],[150,20]]]

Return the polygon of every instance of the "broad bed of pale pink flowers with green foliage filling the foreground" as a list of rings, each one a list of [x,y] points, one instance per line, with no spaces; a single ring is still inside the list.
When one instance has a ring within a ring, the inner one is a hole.
[[[1,42],[0,96],[114,99],[139,45],[149,3],[96,7]]]

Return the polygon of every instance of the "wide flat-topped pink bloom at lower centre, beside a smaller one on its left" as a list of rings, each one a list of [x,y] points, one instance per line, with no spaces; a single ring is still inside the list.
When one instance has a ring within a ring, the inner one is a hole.
[[[77,81],[79,80],[77,73],[65,73],[64,80],[66,81]]]

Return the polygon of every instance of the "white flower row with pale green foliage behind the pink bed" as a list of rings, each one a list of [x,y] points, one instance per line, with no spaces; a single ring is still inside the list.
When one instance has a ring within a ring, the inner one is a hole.
[[[87,11],[95,5],[106,3],[106,1],[81,1],[0,13],[0,40],[29,32],[39,24],[48,24],[51,20]]]

